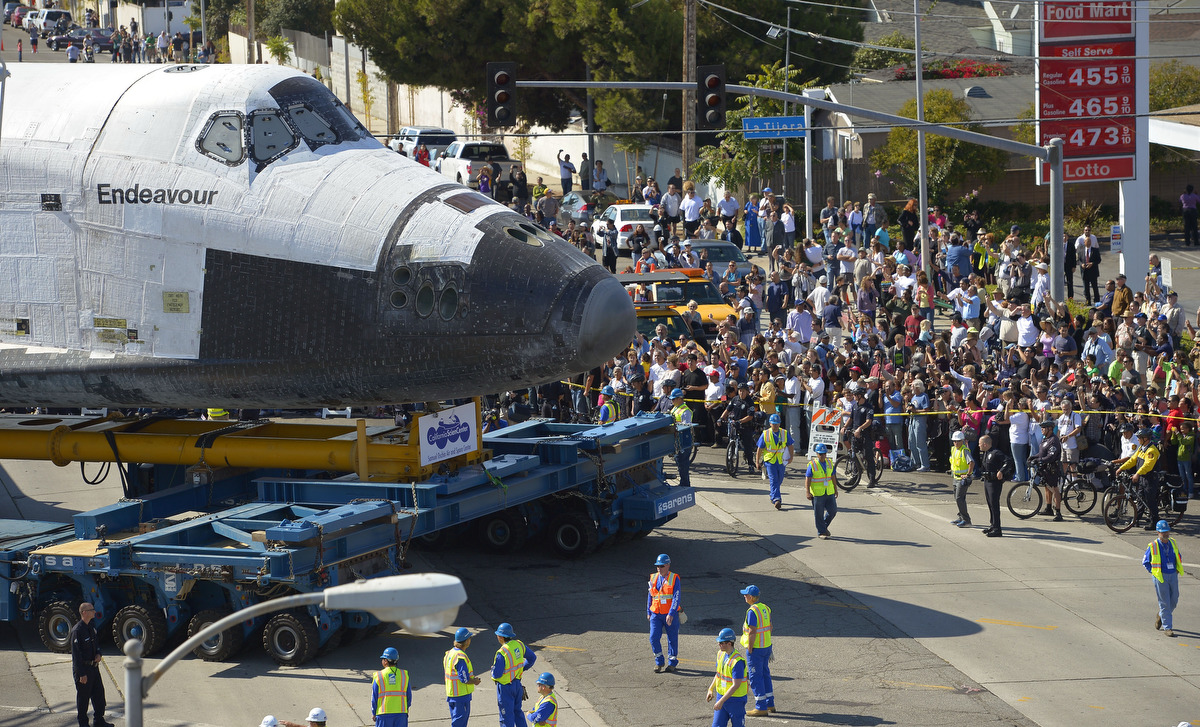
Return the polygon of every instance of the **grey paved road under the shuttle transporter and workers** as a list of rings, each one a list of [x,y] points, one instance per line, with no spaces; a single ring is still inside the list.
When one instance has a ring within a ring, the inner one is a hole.
[[[704,723],[713,637],[740,625],[737,590],[757,584],[776,621],[772,720],[797,725],[1200,725],[1200,588],[1182,583],[1178,638],[1152,629],[1154,600],[1141,569],[1148,535],[1117,536],[1096,515],[1080,522],[1008,522],[1004,539],[948,522],[944,475],[889,475],[876,491],[844,494],[832,528],[814,537],[811,511],[767,501],[761,480],[731,480],[718,450],[701,452],[700,506],[652,536],[580,561],[528,546],[496,555],[464,546],[425,553],[418,567],[456,573],[469,594],[457,625],[514,623],[560,679],[564,727]],[[78,483],[73,468],[2,463],[0,517],[52,518],[118,497],[112,480]],[[986,519],[972,493],[974,522]],[[1186,569],[1200,569],[1200,537],[1180,533]],[[644,581],[660,552],[684,583],[683,671],[654,674],[646,642]],[[1193,564],[1196,565],[1193,565]],[[444,722],[439,657],[448,637],[402,633],[343,645],[301,668],[260,650],[236,663],[186,660],[157,685],[148,725],[251,725],[265,713],[295,720],[313,704],[334,723],[370,720],[367,684],[378,653],[401,648],[418,686],[414,722]],[[494,647],[472,645],[476,667]],[[120,717],[120,660],[106,662]],[[0,723],[72,723],[70,662],[42,649],[28,626],[0,627]],[[494,719],[485,689],[478,720]],[[120,721],[118,723],[121,723]]]

